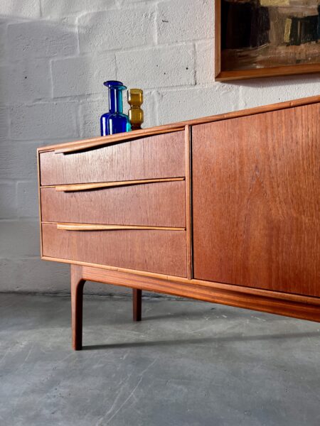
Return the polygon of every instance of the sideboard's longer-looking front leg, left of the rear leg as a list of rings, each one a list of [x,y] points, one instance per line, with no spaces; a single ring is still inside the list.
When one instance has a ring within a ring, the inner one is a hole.
[[[71,265],[71,324],[73,332],[73,349],[82,349],[82,302],[83,286],[82,266]]]

